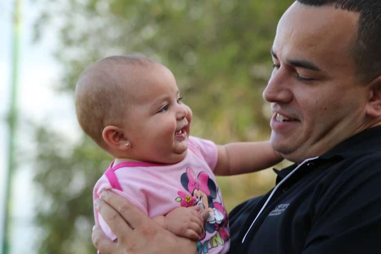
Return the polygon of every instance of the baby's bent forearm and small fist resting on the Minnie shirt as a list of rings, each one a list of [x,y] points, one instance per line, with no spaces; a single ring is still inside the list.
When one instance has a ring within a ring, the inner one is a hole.
[[[163,229],[177,236],[187,237],[192,240],[200,240],[204,234],[204,225],[199,213],[200,206],[178,207],[167,215],[159,215],[152,218]],[[209,213],[208,213],[209,214]]]

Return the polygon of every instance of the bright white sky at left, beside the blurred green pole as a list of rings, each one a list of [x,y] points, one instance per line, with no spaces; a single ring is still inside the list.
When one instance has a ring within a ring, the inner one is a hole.
[[[5,204],[5,179],[8,171],[9,128],[5,121],[10,109],[11,66],[14,0],[0,0],[0,226],[2,228]],[[73,101],[68,95],[54,92],[59,80],[60,66],[52,53],[56,45],[54,33],[45,35],[42,41],[32,42],[33,22],[38,16],[38,6],[31,0],[22,0],[21,37],[19,53],[19,82],[17,105],[19,127],[16,142],[22,148],[33,149],[31,131],[24,127],[26,121],[42,123],[56,129],[62,135],[75,139],[79,136],[74,115]],[[54,31],[54,29],[52,29]],[[68,129],[73,129],[68,133]],[[18,160],[20,154],[16,154]],[[32,163],[20,164],[13,174],[11,199],[11,254],[35,254],[36,237],[41,233],[33,224],[33,196],[38,195],[33,185]],[[26,195],[27,194],[27,195]],[[3,242],[0,232],[0,246]],[[0,249],[0,253],[2,248]]]

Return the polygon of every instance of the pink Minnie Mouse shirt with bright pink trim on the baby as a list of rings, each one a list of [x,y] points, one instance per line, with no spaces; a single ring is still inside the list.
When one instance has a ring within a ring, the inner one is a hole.
[[[212,141],[190,136],[186,156],[179,163],[124,162],[116,166],[111,163],[95,184],[93,198],[112,189],[150,218],[166,215],[176,207],[200,205],[209,210],[209,218],[204,223],[205,234],[197,243],[197,253],[227,253],[228,214],[213,174],[217,159],[217,146]],[[94,216],[105,234],[115,240],[95,207]]]

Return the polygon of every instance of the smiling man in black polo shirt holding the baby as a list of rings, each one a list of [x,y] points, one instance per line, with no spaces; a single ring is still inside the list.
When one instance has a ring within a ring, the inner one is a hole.
[[[230,253],[380,253],[380,13],[379,0],[298,0],[280,19],[263,97],[272,147],[295,164],[231,212]],[[117,195],[97,201],[119,239],[94,230],[103,254],[197,252]]]

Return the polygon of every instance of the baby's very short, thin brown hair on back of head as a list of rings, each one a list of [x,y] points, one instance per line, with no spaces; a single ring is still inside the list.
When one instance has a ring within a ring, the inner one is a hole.
[[[107,150],[103,129],[119,125],[128,108],[128,93],[123,87],[135,82],[134,70],[157,64],[136,55],[114,55],[89,65],[75,87],[75,112],[79,125],[100,147]]]

